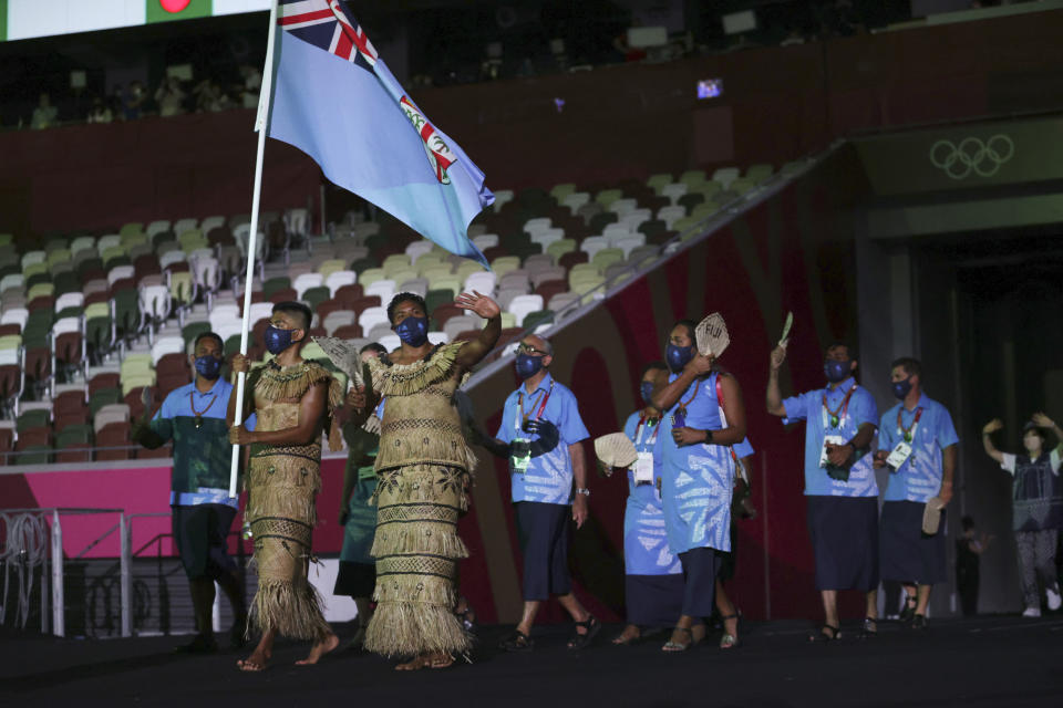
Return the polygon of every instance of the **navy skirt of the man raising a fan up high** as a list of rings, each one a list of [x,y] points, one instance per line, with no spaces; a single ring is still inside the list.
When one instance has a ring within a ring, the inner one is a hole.
[[[878,587],[878,499],[806,497],[816,590]]]

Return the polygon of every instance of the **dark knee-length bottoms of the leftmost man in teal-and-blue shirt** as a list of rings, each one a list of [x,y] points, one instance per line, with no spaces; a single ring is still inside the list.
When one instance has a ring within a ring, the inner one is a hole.
[[[226,504],[171,507],[174,542],[189,580],[218,580],[236,571],[228,541],[236,509]]]

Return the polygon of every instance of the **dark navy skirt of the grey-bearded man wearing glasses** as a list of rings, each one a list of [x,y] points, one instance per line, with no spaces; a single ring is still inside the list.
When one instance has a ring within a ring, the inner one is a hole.
[[[568,572],[572,508],[536,501],[518,501],[513,507],[524,554],[524,600],[567,595],[572,591]]]

